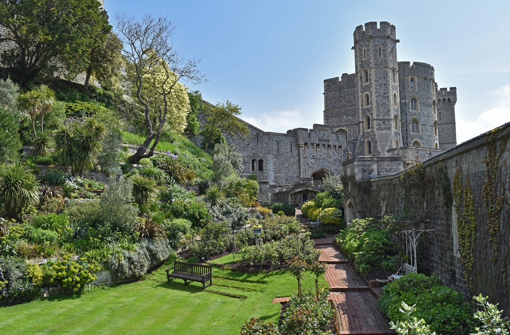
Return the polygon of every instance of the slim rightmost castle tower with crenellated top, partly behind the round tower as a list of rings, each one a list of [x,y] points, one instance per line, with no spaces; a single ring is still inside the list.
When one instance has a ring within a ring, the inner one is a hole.
[[[457,145],[455,102],[457,102],[457,88],[450,87],[450,91],[446,88],[441,88],[439,91],[436,91],[439,149],[442,150],[447,150]]]

